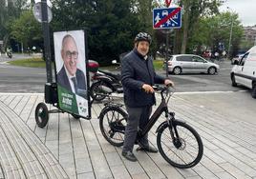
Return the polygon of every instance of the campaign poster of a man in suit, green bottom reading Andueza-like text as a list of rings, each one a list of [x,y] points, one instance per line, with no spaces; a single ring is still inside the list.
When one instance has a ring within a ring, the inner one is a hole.
[[[53,33],[58,108],[87,118],[89,100],[83,30]]]

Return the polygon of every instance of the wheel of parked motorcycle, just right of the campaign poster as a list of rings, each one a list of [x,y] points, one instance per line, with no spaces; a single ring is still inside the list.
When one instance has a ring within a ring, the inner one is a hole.
[[[90,95],[95,101],[102,101],[106,97],[106,95],[102,93],[100,89],[98,89],[99,86],[108,87],[107,84],[103,81],[98,81],[92,84],[90,87]],[[102,93],[102,95],[100,93]]]

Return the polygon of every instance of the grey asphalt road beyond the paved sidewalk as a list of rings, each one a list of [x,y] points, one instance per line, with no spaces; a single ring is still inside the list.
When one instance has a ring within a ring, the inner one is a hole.
[[[26,55],[14,54],[12,59],[4,54],[0,56],[0,92],[44,92],[46,70],[37,68],[15,67],[7,63],[14,59],[22,59]],[[169,75],[176,85],[177,92],[191,91],[236,91],[229,77],[232,68],[229,61],[219,62],[221,70],[218,74],[181,74]],[[158,71],[165,76],[163,70]],[[54,78],[54,72],[53,72]]]

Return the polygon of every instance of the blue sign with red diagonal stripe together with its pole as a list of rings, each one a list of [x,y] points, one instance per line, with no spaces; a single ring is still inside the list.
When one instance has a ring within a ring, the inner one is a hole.
[[[166,77],[168,77],[168,31],[181,29],[181,7],[168,8],[171,0],[165,0],[167,8],[153,10],[153,29],[166,30],[165,65]]]

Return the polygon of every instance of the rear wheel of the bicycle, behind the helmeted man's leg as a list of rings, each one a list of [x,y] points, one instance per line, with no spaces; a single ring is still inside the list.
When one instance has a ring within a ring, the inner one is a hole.
[[[119,107],[106,107],[99,114],[99,129],[103,137],[116,147],[123,145],[126,122],[127,113]]]

